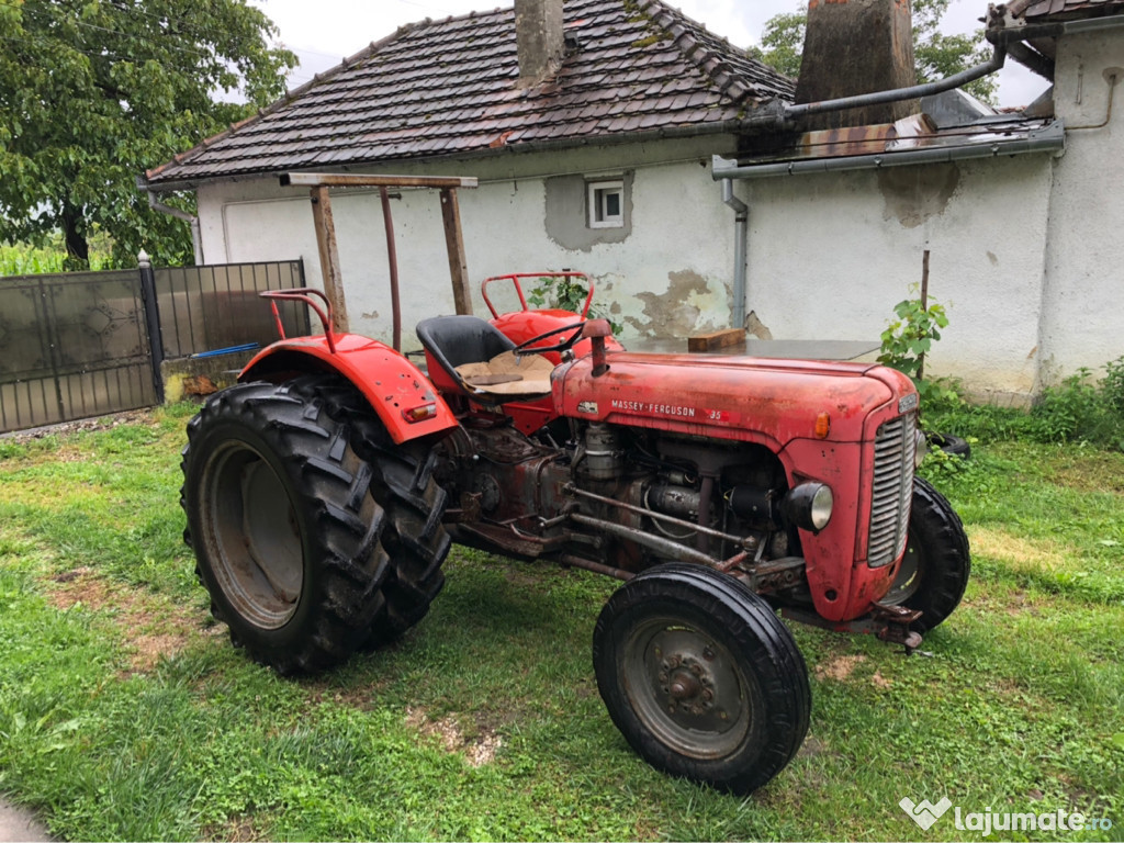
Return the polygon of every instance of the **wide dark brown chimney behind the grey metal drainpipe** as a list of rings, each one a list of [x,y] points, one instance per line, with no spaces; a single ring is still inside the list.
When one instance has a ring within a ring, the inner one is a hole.
[[[909,0],[808,0],[796,102],[819,102],[916,84]],[[806,130],[894,123],[917,100],[814,115]]]

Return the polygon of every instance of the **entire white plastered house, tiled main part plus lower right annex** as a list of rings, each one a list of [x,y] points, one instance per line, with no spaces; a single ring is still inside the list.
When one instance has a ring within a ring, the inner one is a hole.
[[[995,8],[997,60],[1054,79],[1025,114],[952,92],[924,116],[801,132],[791,80],[660,0],[519,0],[405,27],[143,187],[196,191],[208,262],[299,254],[315,279],[307,194],[278,174],[474,175],[471,275],[583,270],[626,343],[734,321],[877,344],[927,253],[952,320],[928,371],[1022,402],[1124,354],[1122,6]],[[387,336],[379,197],[333,205],[352,329]],[[451,312],[439,209],[404,191],[393,214],[405,324]]]

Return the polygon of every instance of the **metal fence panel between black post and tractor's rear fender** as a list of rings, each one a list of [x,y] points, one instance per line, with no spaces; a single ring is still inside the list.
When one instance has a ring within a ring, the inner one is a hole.
[[[301,261],[157,269],[155,275],[165,357],[269,345],[278,338],[277,324],[259,293],[305,285]],[[309,333],[303,305],[279,301],[278,308],[287,336]]]

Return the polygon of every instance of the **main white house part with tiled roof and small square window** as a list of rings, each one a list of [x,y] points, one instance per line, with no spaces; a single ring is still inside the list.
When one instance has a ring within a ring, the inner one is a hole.
[[[477,287],[573,268],[633,337],[726,327],[735,219],[710,158],[794,83],[660,0],[569,0],[564,20],[553,0],[518,8],[404,27],[144,184],[196,191],[207,262],[299,254],[318,279],[307,192],[278,174],[477,176],[460,192]],[[388,336],[379,197],[334,194],[333,209],[351,328]],[[404,324],[452,312],[434,197],[404,191],[393,219]]]

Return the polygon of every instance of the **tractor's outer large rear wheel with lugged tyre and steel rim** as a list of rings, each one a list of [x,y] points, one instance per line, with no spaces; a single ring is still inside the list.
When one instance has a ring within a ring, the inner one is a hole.
[[[211,613],[282,673],[344,661],[384,609],[387,518],[348,434],[292,384],[224,390],[188,425],[181,497]]]

